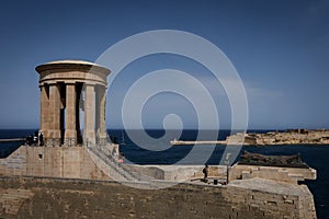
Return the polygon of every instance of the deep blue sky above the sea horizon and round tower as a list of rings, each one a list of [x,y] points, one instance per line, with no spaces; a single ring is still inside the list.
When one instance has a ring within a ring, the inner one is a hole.
[[[329,128],[328,23],[329,3],[320,0],[0,1],[0,128],[38,127],[37,65],[95,61],[115,43],[152,30],[190,32],[225,53],[246,88],[249,128]],[[166,54],[121,72],[109,89],[106,126],[122,127],[122,100],[134,81],[168,68],[201,80],[220,128],[230,127],[228,99],[208,70]],[[140,117],[145,127],[159,128],[169,114],[179,115],[185,128],[197,127],[193,104],[170,92],[152,96]]]

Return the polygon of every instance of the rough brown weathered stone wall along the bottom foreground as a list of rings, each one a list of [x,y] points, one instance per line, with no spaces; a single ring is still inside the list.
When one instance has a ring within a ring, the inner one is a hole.
[[[0,217],[311,219],[316,215],[307,187],[261,178],[225,187],[184,183],[137,189],[109,181],[7,176],[0,178]]]

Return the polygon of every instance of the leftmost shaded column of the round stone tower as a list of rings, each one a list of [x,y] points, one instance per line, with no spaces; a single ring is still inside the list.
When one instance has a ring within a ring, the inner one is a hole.
[[[41,85],[41,114],[39,114],[39,130],[44,136],[47,136],[48,131],[48,118],[49,118],[49,89],[47,84]]]

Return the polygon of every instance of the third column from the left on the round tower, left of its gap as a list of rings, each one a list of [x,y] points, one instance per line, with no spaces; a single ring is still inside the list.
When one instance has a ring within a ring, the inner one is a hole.
[[[76,129],[76,101],[77,92],[75,83],[66,84],[66,111],[65,111],[65,146],[77,145],[77,129]]]

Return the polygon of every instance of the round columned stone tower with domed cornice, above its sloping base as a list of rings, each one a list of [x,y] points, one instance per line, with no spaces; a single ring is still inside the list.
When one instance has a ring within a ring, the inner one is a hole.
[[[110,70],[81,60],[52,61],[35,69],[39,73],[39,129],[44,146],[82,146],[105,140]],[[83,112],[83,132],[80,110]]]

